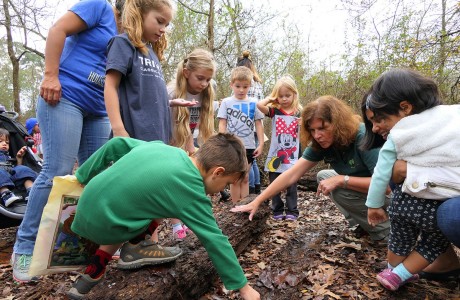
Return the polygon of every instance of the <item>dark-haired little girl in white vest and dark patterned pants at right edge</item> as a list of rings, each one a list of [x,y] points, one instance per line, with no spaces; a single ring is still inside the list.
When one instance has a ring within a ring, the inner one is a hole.
[[[417,274],[450,245],[437,226],[436,211],[439,200],[460,195],[460,186],[455,186],[460,169],[460,105],[441,104],[436,83],[408,69],[385,72],[363,99],[367,129],[363,147],[380,146],[377,135],[386,140],[366,201],[369,224],[387,220],[385,191],[397,159],[406,160],[408,166],[432,168],[423,176],[409,176],[395,189],[388,208],[388,268],[377,280],[389,290],[418,279]]]

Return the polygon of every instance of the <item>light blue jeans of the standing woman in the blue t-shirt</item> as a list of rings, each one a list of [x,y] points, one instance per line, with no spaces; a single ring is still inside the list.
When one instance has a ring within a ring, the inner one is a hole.
[[[41,97],[37,118],[42,134],[43,168],[32,186],[26,212],[19,227],[14,253],[32,255],[43,208],[48,201],[54,176],[72,174],[75,160],[82,164],[107,142],[110,122],[61,98],[56,106]]]

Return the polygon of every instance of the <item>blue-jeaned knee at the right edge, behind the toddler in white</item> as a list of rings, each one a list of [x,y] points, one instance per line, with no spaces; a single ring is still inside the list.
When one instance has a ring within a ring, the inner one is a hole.
[[[460,247],[460,197],[444,201],[438,208],[437,220],[447,239]]]

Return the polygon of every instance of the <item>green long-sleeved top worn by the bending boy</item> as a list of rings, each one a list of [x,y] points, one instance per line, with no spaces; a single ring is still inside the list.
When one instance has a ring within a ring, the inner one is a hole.
[[[178,218],[201,241],[227,289],[247,283],[217,226],[203,178],[183,150],[159,141],[116,137],[96,151],[76,177],[86,184],[72,224],[77,234],[111,245],[143,233],[152,219]]]

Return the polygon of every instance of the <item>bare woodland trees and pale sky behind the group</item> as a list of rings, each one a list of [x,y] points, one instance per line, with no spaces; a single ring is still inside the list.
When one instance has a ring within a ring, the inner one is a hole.
[[[35,115],[48,29],[73,2],[2,0],[0,104],[23,121]],[[432,77],[445,103],[460,103],[460,1],[335,0],[319,15],[320,0],[173,2],[165,78],[174,78],[192,49],[210,49],[218,64],[218,99],[230,95],[230,71],[249,50],[265,95],[290,74],[302,104],[329,94],[358,108],[382,72],[409,67]],[[335,12],[345,17],[331,29]],[[313,23],[319,26],[308,26]]]

